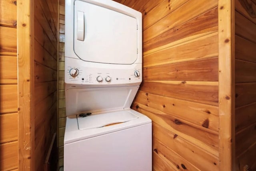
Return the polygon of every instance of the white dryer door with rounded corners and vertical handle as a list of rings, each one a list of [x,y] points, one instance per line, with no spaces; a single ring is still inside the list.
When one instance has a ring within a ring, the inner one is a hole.
[[[135,18],[79,0],[74,5],[74,52],[80,59],[111,64],[136,61]]]

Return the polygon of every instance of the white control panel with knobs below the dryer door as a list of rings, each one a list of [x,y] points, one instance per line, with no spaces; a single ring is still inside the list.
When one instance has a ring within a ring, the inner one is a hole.
[[[77,70],[78,75],[72,76]],[[65,57],[65,83],[77,85],[123,85],[141,83],[142,64],[91,63]],[[139,85],[138,84],[138,85]]]

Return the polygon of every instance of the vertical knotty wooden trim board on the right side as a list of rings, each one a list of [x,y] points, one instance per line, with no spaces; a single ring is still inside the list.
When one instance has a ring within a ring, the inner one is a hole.
[[[234,1],[218,1],[220,171],[235,168]]]

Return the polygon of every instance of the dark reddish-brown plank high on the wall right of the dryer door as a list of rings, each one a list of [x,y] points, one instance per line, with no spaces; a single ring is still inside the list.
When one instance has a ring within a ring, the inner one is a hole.
[[[143,44],[143,51],[146,52],[157,47],[172,43],[174,41],[179,41],[180,39],[186,39],[186,41],[189,41],[216,31],[218,31],[218,8],[214,8],[198,16],[197,18],[190,20],[189,22],[177,26],[176,28],[170,29],[158,37],[150,39]],[[143,35],[145,34],[146,33]],[[149,32],[148,34],[152,33]]]

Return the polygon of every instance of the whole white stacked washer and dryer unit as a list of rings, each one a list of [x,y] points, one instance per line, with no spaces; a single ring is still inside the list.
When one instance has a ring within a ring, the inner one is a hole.
[[[142,81],[142,15],[66,0],[65,171],[151,171],[151,120],[130,109]]]

